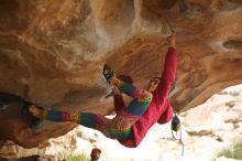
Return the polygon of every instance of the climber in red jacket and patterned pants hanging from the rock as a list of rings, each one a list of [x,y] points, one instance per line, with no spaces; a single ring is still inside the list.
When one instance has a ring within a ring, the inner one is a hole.
[[[88,128],[101,131],[106,137],[117,139],[121,144],[134,148],[145,137],[147,130],[155,124],[166,124],[173,117],[173,108],[168,94],[176,75],[176,34],[167,39],[169,47],[166,54],[162,77],[153,77],[146,90],[119,79],[111,67],[103,66],[103,76],[113,87],[113,119],[92,112],[67,112],[46,110],[30,106],[30,112],[38,118],[53,121],[74,121]],[[133,97],[125,106],[122,94]]]

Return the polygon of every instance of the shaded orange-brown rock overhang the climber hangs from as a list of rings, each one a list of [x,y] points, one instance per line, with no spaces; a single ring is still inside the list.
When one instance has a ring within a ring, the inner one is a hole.
[[[187,110],[242,83],[241,14],[240,0],[1,0],[0,92],[48,108],[109,114],[103,64],[145,88],[163,69],[172,28],[178,66],[170,100]],[[76,126],[44,121],[33,130],[21,105],[10,107],[0,108],[0,140],[37,147]]]

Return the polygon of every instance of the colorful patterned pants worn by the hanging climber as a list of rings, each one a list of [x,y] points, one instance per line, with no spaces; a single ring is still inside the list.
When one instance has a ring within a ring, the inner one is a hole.
[[[121,112],[118,112],[113,119],[106,118],[102,115],[92,112],[67,112],[58,110],[45,110],[44,118],[53,121],[75,121],[81,126],[97,129],[106,137],[111,139],[127,139],[133,136],[132,125],[147,109],[152,94],[127,84],[118,78],[113,78],[121,93],[133,97],[133,100]]]

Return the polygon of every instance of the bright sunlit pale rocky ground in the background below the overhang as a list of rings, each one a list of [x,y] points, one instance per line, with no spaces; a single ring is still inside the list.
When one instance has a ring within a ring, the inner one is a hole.
[[[100,161],[241,161],[241,148],[237,150],[232,144],[242,142],[242,85],[227,88],[178,117],[184,155],[180,142],[172,137],[170,122],[154,125],[138,148],[125,148],[97,130],[78,126],[62,137],[47,140],[46,147],[38,151],[22,148],[15,154],[26,157],[28,151],[32,151],[32,154],[52,155],[58,160],[64,159],[64,152],[89,157],[91,149],[98,147],[101,149]],[[179,132],[174,135],[179,138]],[[228,148],[237,154],[228,154],[224,151]],[[218,155],[221,150],[227,158]],[[9,155],[6,153],[6,157]]]

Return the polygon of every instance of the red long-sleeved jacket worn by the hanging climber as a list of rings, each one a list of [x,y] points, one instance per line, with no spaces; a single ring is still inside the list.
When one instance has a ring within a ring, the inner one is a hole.
[[[176,76],[176,50],[169,47],[166,54],[161,83],[153,93],[153,99],[146,111],[132,126],[134,137],[125,140],[119,140],[123,146],[130,148],[138,147],[145,137],[147,130],[155,122],[162,125],[168,122],[172,119],[173,107],[169,104],[168,94]],[[122,96],[114,96],[114,107],[117,112],[125,108]]]

